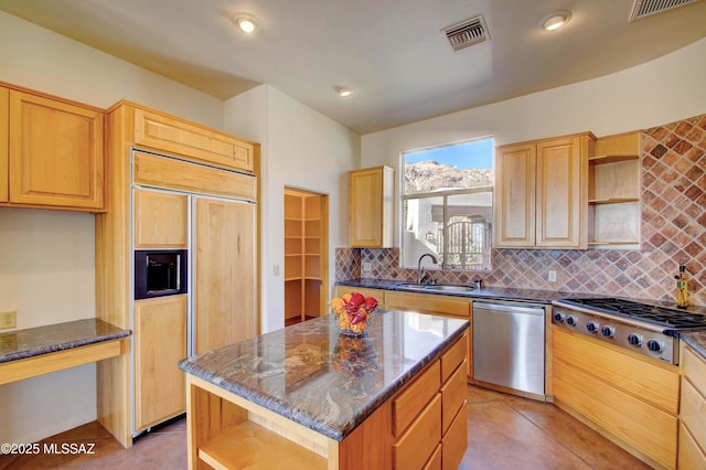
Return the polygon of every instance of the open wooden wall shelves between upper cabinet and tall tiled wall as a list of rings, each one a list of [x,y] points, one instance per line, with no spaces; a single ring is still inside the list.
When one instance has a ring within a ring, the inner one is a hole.
[[[588,245],[639,249],[640,132],[597,139],[588,163]]]

